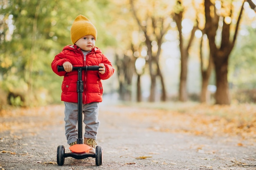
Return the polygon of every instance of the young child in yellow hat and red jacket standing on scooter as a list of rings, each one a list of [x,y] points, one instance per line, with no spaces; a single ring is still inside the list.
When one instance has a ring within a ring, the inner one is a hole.
[[[95,45],[97,30],[83,15],[78,15],[71,26],[71,40],[74,45],[67,45],[61,53],[54,57],[52,70],[59,76],[64,76],[61,100],[65,104],[65,135],[70,146],[77,141],[78,94],[76,82],[77,71],[72,66],[101,66],[99,71],[83,72],[83,114],[85,124],[84,144],[90,146],[90,152],[95,153],[97,132],[99,128],[99,102],[102,102],[101,79],[108,79],[114,73],[111,62]],[[65,71],[58,72],[57,67],[63,66]]]

